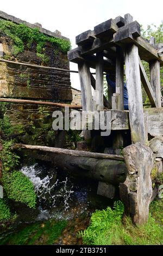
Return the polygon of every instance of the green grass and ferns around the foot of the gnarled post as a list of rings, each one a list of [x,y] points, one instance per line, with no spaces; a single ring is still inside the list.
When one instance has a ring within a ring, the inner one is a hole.
[[[162,245],[163,201],[151,204],[148,222],[133,226],[130,217],[123,217],[123,204],[115,202],[114,209],[96,211],[92,214],[90,226],[80,231],[87,245]]]

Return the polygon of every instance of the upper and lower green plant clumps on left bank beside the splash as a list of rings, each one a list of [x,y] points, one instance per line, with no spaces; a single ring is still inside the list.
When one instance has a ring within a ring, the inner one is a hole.
[[[3,141],[3,149],[0,157],[3,164],[3,176],[1,182],[7,198],[21,202],[35,208],[36,195],[34,186],[22,172],[15,170],[18,168],[20,157],[12,152],[11,147],[14,140]]]

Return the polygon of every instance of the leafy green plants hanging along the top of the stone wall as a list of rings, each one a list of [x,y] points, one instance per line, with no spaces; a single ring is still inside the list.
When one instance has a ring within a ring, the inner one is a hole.
[[[29,28],[24,24],[15,24],[11,21],[0,19],[0,32],[7,35],[13,42],[12,54],[18,55],[24,51],[24,47],[30,48],[32,43],[36,43],[37,54],[43,54],[46,42],[52,43],[54,46],[58,46],[63,53],[67,53],[70,50],[70,41],[65,39],[50,37],[39,32],[37,28]],[[45,58],[46,56],[44,56]],[[46,59],[47,60],[47,59]]]

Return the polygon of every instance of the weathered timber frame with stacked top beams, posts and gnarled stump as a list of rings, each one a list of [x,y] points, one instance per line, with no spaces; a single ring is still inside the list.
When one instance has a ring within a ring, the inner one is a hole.
[[[124,18],[118,16],[95,26],[93,31],[77,35],[78,47],[68,52],[68,60],[78,64],[83,110],[111,111],[111,129],[117,130],[114,148],[123,146],[121,130],[130,128],[132,145],[123,149],[128,175],[126,181],[120,183],[120,194],[126,213],[137,224],[147,221],[152,198],[150,174],[154,157],[147,146],[148,133],[157,135],[153,121],[163,114],[160,88],[163,44],[155,44],[154,38],[150,41],[143,39],[140,30],[139,23],[133,21],[130,14],[124,15]],[[150,82],[141,60],[149,63]],[[129,112],[124,111],[123,102],[124,65]],[[96,80],[92,78],[90,68],[96,69]],[[108,101],[103,95],[103,72],[116,76],[116,93],[112,94],[108,88],[112,96]],[[141,84],[154,111],[143,110]],[[93,96],[91,86],[94,88]],[[163,135],[163,130],[160,133]],[[90,137],[90,131],[86,131],[85,139]],[[99,182],[101,187],[112,189],[110,184],[102,186]]]

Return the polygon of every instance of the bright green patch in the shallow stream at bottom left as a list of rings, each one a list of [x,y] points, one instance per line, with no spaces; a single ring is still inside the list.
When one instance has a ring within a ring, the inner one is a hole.
[[[53,245],[67,225],[66,221],[49,220],[29,224],[16,233],[0,239],[0,245]]]

